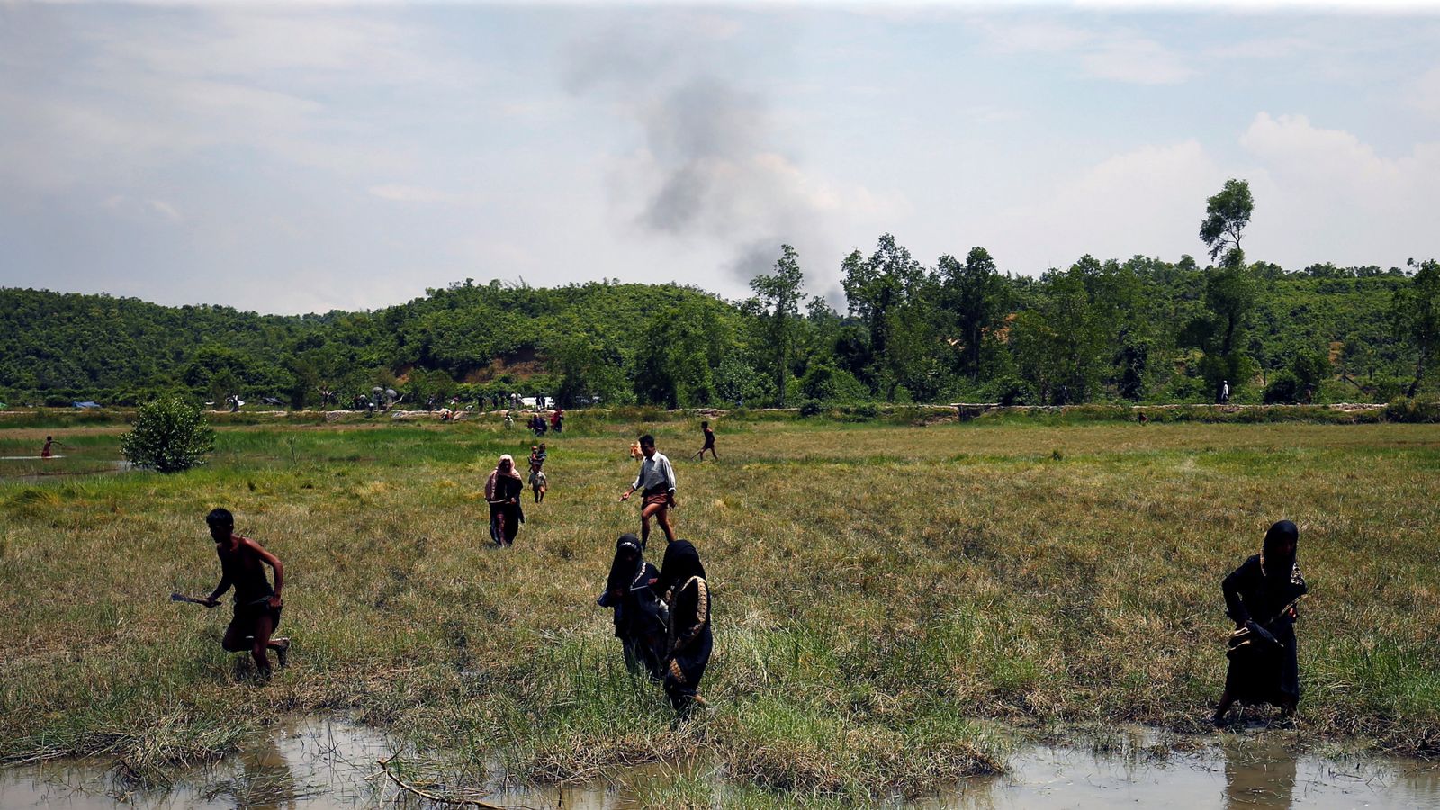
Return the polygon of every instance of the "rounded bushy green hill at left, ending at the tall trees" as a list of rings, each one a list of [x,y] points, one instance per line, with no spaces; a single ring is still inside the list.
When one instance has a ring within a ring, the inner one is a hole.
[[[706,324],[717,344],[729,344],[739,317],[696,288],[642,284],[467,281],[395,307],[323,316],[0,288],[0,401],[135,404],[186,388],[212,401],[233,392],[318,405],[321,391],[348,401],[376,383],[412,393],[547,386],[564,359],[576,370],[596,366],[592,376],[608,388],[628,388],[622,366],[657,311]]]

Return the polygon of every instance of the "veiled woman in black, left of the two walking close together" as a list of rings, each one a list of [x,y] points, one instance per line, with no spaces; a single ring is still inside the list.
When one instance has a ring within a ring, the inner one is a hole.
[[[596,602],[615,608],[615,637],[625,651],[625,667],[639,675],[641,667],[654,680],[664,677],[665,605],[652,585],[660,572],[645,562],[635,535],[621,535],[615,540],[615,561],[605,581],[605,592]]]

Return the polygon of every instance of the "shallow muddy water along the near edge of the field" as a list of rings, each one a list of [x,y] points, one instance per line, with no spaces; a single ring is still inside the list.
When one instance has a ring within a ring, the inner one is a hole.
[[[374,731],[328,721],[281,728],[240,754],[181,775],[170,790],[131,791],[109,762],[58,761],[0,770],[0,809],[170,810],[253,807],[328,810],[420,807],[376,762],[395,745]],[[1143,738],[1103,751],[1030,748],[1002,777],[946,785],[913,809],[1047,810],[1174,807],[1223,810],[1440,807],[1440,764],[1332,761],[1290,754],[1267,734],[1224,735],[1197,751],[1156,755]],[[618,774],[621,783],[625,774]],[[603,785],[492,791],[507,807],[625,810],[624,790]]]

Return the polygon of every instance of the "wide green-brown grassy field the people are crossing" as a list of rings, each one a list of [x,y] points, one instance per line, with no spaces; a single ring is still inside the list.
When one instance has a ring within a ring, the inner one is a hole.
[[[714,712],[680,728],[593,604],[648,427],[716,601]],[[697,765],[742,804],[922,794],[1002,768],[1017,729],[1202,732],[1220,579],[1280,517],[1313,594],[1297,736],[1440,754],[1440,425],[717,427],[720,463],[688,463],[697,425],[575,415],[505,551],[482,481],[530,437],[492,421],[236,425],[179,476],[0,477],[0,757],[164,781],[284,713],[344,712],[475,783],[660,761],[678,770],[629,785],[655,806],[713,800]],[[120,457],[114,428],[53,432],[73,471]],[[287,566],[294,662],[265,685],[217,646],[228,608],[167,601],[219,578],[213,506]]]

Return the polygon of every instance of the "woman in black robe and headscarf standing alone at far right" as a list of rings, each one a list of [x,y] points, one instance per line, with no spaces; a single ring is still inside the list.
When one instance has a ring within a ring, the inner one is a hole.
[[[1259,555],[1244,561],[1221,584],[1225,608],[1236,621],[1230,643],[1225,690],[1215,706],[1215,725],[1241,703],[1273,703],[1283,716],[1300,702],[1300,666],[1296,657],[1295,601],[1305,594],[1305,578],[1295,564],[1300,532],[1280,520],[1264,535]]]

